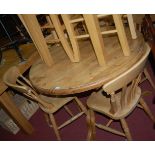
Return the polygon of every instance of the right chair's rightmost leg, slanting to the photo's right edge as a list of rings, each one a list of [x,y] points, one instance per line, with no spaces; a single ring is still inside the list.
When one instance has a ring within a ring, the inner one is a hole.
[[[141,106],[143,107],[144,111],[146,112],[146,114],[150,117],[150,119],[153,121],[153,123],[155,123],[155,117],[153,116],[150,108],[147,106],[144,99],[140,98],[139,102],[140,102]]]

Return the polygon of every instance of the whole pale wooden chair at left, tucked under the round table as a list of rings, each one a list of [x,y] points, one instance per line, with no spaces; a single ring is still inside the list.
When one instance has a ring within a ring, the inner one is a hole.
[[[9,87],[17,90],[28,98],[36,101],[40,108],[47,114],[49,125],[53,127],[53,130],[56,134],[57,140],[61,140],[59,130],[71,122],[75,121],[77,118],[86,114],[87,110],[82,102],[77,97],[49,97],[38,94],[36,90],[33,88],[32,84],[28,79],[26,79],[19,71],[19,69],[15,66],[11,67],[3,76],[3,81]],[[72,111],[67,107],[67,104],[75,100],[79,113],[73,115]],[[54,114],[60,109],[64,107],[66,112],[71,116],[70,119],[65,121],[60,126],[57,125]],[[51,122],[51,124],[50,124]]]

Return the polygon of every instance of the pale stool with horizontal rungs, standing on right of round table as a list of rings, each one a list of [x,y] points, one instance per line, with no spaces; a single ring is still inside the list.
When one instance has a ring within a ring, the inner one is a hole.
[[[112,16],[115,27],[110,30],[103,30],[100,26],[99,20],[107,16]],[[83,14],[83,15],[75,16],[75,18],[72,18],[71,15],[62,14],[61,17],[63,19],[64,25],[66,27],[66,30],[72,45],[74,58],[77,61],[80,60],[80,48],[79,48],[78,40],[90,38],[94,48],[94,52],[99,62],[99,65],[101,66],[105,65],[107,61],[107,58],[106,58],[107,52],[105,51],[102,35],[110,35],[115,33],[118,35],[123,54],[125,56],[130,55],[130,49],[129,49],[127,37],[125,34],[124,26],[120,15]],[[74,24],[78,24],[78,23],[82,23],[83,29],[85,30],[84,34],[76,33],[74,29]]]

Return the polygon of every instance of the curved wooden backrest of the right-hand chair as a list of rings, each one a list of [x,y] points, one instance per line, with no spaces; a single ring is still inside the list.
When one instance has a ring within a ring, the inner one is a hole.
[[[150,48],[146,45],[146,49],[140,60],[130,69],[109,81],[103,86],[103,90],[111,95],[111,113],[116,113],[119,110],[125,110],[131,104],[136,105],[141,95],[141,90],[138,84],[141,80],[141,73],[145,67]],[[131,84],[130,84],[131,83]],[[121,96],[117,100],[121,91]],[[117,98],[117,99],[116,99]]]

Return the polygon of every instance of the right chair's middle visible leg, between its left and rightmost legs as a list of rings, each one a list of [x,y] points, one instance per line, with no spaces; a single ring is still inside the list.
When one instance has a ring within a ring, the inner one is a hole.
[[[121,122],[122,128],[123,128],[123,130],[125,132],[125,135],[126,135],[127,139],[132,140],[131,133],[130,133],[127,122],[125,121],[124,118],[120,119],[120,122]]]

